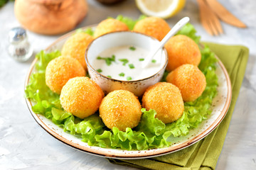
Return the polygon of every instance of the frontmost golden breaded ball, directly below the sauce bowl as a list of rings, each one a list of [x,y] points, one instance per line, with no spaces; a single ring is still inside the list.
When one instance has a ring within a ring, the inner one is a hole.
[[[142,106],[132,92],[125,90],[112,91],[103,98],[100,104],[100,118],[107,128],[117,127],[125,131],[139,124]]]

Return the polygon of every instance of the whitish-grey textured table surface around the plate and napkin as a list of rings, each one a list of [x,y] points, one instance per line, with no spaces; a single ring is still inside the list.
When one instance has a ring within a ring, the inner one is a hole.
[[[77,28],[99,23],[107,16],[122,14],[138,18],[141,15],[132,0],[115,6],[102,6],[95,0],[87,2],[89,11]],[[256,169],[256,1],[220,2],[248,28],[240,29],[222,23],[223,35],[208,35],[199,21],[196,0],[187,0],[183,11],[167,22],[174,26],[180,18],[189,16],[201,40],[249,47],[245,79],[216,169]],[[0,169],[131,169],[63,145],[36,123],[23,97],[23,84],[34,57],[20,63],[6,52],[9,30],[20,26],[14,16],[13,2],[0,8],[0,26]],[[34,52],[45,49],[58,37],[28,31],[28,40]]]

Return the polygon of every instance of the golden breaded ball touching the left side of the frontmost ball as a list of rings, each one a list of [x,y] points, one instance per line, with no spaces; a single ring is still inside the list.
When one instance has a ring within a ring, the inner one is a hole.
[[[83,119],[98,110],[103,97],[104,93],[95,81],[75,77],[63,86],[60,104],[65,111]]]

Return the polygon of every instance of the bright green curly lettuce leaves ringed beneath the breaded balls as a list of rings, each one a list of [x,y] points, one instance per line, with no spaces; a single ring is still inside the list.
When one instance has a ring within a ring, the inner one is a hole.
[[[117,19],[126,23],[131,30],[139,21],[139,19],[134,21],[123,16],[117,16]],[[83,30],[78,30],[78,32],[81,31]],[[85,33],[93,35],[93,30],[88,28]],[[197,43],[200,41],[200,37],[196,35],[196,30],[190,23],[178,31],[178,34],[187,35]],[[46,66],[50,60],[60,55],[60,51],[49,53],[41,51],[36,55],[38,59],[35,65],[36,72],[31,74],[25,95],[35,103],[32,106],[34,113],[46,116],[65,132],[80,137],[90,146],[126,150],[168,147],[171,145],[169,137],[188,135],[189,130],[197,128],[203,120],[208,118],[211,113],[211,103],[217,94],[218,77],[215,74],[217,60],[209,47],[201,47],[202,60],[198,67],[206,76],[206,90],[196,101],[184,103],[185,110],[181,118],[174,123],[164,124],[155,118],[156,111],[146,111],[142,108],[142,118],[136,128],[126,128],[125,132],[119,131],[118,128],[110,130],[104,125],[98,113],[82,120],[64,111],[60,105],[60,96],[46,86]],[[168,72],[165,72],[165,75],[167,74]],[[162,81],[165,81],[165,77]]]

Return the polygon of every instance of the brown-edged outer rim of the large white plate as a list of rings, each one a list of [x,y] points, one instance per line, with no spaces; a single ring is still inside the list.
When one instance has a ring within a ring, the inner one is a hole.
[[[82,29],[92,28],[92,27],[95,27],[95,26],[97,26],[97,24],[92,25],[92,26],[85,26],[85,27],[82,27]],[[61,40],[65,39],[65,38],[68,38],[71,34],[75,33],[75,31],[76,30],[73,30],[69,33],[66,33],[66,34],[60,36],[60,38],[58,38],[53,43],[51,43],[48,47],[46,47],[45,51],[49,50],[51,47],[53,47],[53,45],[57,44]],[[232,98],[231,81],[230,81],[230,77],[228,75],[228,72],[225,69],[224,64],[220,61],[218,56],[215,55],[215,57],[218,59],[218,64],[220,65],[220,69],[223,71],[223,73],[225,75],[225,79],[226,79],[227,85],[228,85],[228,94],[227,94],[227,98],[225,99],[225,105],[223,106],[223,110],[221,111],[220,115],[218,115],[218,118],[216,118],[214,120],[214,122],[211,125],[209,125],[208,128],[206,128],[206,130],[203,130],[203,132],[201,132],[196,137],[193,137],[190,140],[188,140],[186,142],[183,142],[183,144],[175,146],[175,147],[161,148],[160,151],[156,150],[156,152],[147,153],[147,152],[145,152],[147,150],[142,150],[142,152],[140,152],[140,153],[125,154],[125,153],[113,153],[113,152],[100,151],[100,150],[97,150],[97,149],[93,149],[90,146],[86,147],[86,146],[78,145],[78,144],[76,144],[76,143],[74,143],[70,140],[67,140],[65,137],[60,136],[58,133],[51,130],[48,127],[48,125],[46,125],[46,123],[44,123],[41,120],[41,118],[39,118],[38,114],[33,113],[32,108],[31,108],[32,103],[31,103],[31,100],[29,98],[25,98],[26,99],[26,105],[28,106],[28,110],[30,111],[33,118],[36,120],[38,125],[40,125],[41,128],[43,128],[43,130],[46,130],[46,132],[48,132],[51,136],[55,137],[55,139],[59,140],[60,142],[63,142],[65,145],[68,145],[69,147],[72,147],[74,149],[78,149],[82,152],[86,152],[88,154],[92,154],[92,155],[95,155],[95,156],[105,157],[105,158],[112,158],[112,159],[143,159],[143,158],[149,158],[149,157],[158,157],[158,156],[161,156],[161,155],[164,155],[164,154],[169,154],[169,153],[172,153],[172,152],[176,152],[178,150],[189,147],[189,146],[195,144],[196,142],[199,142],[204,137],[209,135],[210,132],[215,130],[215,128],[218,127],[218,125],[225,118],[225,115],[228,113],[228,109],[230,107],[231,98]],[[33,72],[33,69],[35,67],[36,62],[37,62],[37,58],[35,58],[33,60],[33,62],[31,63],[31,67],[29,68],[28,74],[26,75],[24,89],[26,89],[26,86],[29,83],[29,78],[30,78],[30,76]]]

